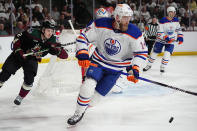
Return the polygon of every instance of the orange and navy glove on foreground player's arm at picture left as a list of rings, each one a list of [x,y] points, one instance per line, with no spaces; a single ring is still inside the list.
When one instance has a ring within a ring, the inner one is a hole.
[[[90,66],[89,54],[87,50],[80,50],[76,53],[78,64],[81,67],[88,68]]]

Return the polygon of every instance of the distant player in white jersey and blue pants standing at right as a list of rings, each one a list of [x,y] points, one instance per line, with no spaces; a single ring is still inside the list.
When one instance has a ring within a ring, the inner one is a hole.
[[[160,72],[164,73],[170,60],[170,55],[174,50],[174,44],[177,41],[179,45],[183,43],[183,33],[181,31],[179,20],[175,17],[175,8],[172,6],[168,7],[167,14],[168,16],[163,17],[159,22],[157,40],[148,59],[148,64],[143,71],[147,71],[151,68],[152,63],[155,61],[157,55],[162,52],[164,47],[164,55],[160,66]]]

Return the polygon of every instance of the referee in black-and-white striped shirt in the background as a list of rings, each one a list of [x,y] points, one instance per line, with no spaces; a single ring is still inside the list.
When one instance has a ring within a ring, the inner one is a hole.
[[[148,47],[148,55],[150,55],[153,45],[156,40],[158,30],[157,17],[153,16],[152,21],[145,26],[144,37]]]

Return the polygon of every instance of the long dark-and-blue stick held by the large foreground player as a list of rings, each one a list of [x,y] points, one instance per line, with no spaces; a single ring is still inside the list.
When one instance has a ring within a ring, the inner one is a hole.
[[[98,67],[98,65],[94,64],[94,63],[91,63],[90,65],[94,66],[94,67]],[[123,75],[126,75],[126,76],[129,75],[128,73],[125,73],[125,72],[122,72],[122,71],[116,71],[114,69],[109,69],[109,68],[106,68],[106,67],[103,67],[103,66],[101,66],[101,68],[105,69],[105,70],[113,71],[113,72],[119,72],[119,73],[121,73]],[[156,85],[160,85],[160,86],[163,86],[163,87],[171,88],[171,89],[174,89],[174,90],[177,90],[177,91],[181,91],[181,92],[184,92],[184,93],[187,93],[187,94],[190,94],[190,95],[197,96],[196,92],[180,89],[180,88],[177,88],[177,87],[174,87],[174,86],[171,86],[171,85],[167,85],[167,84],[160,83],[160,82],[157,82],[157,81],[149,80],[149,79],[146,79],[146,78],[143,78],[143,77],[139,77],[139,79],[143,80],[143,81],[146,81],[146,82],[149,82],[149,83],[153,83],[153,84],[156,84]]]

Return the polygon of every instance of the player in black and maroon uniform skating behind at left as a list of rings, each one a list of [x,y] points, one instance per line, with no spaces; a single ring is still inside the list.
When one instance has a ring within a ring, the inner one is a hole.
[[[57,55],[61,59],[68,57],[67,52],[56,42],[53,35],[55,24],[53,21],[44,21],[41,30],[26,30],[17,34],[12,42],[13,52],[6,59],[0,73],[0,87],[11,75],[23,68],[24,82],[19,95],[14,100],[20,105],[23,98],[33,86],[34,77],[37,74],[38,62],[48,53]]]

